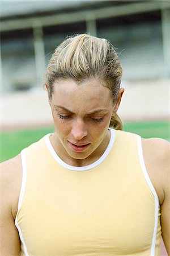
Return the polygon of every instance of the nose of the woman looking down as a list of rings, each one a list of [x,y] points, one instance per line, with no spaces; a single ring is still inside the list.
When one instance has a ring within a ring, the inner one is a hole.
[[[82,119],[76,119],[73,122],[71,134],[78,141],[87,136],[86,125]]]

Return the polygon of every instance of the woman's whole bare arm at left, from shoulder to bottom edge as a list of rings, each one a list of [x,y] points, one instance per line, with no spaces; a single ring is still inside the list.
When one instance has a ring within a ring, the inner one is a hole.
[[[22,180],[20,156],[1,164],[1,255],[19,256],[20,239],[15,226]]]

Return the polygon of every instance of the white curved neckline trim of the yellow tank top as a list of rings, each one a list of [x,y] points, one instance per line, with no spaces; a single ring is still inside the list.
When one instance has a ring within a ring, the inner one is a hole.
[[[51,134],[46,134],[44,139],[45,139],[45,143],[46,143],[46,146],[48,147],[50,154],[53,156],[54,159],[56,159],[56,161],[59,164],[61,164],[61,166],[65,167],[69,170],[73,170],[73,171],[87,171],[87,170],[90,170],[91,168],[98,166],[101,162],[103,162],[103,160],[107,157],[107,155],[111,151],[111,148],[113,147],[113,144],[114,144],[115,130],[113,130],[113,129],[109,129],[109,130],[111,131],[111,138],[110,138],[109,144],[108,144],[106,150],[104,151],[103,155],[101,155],[100,158],[97,159],[94,163],[88,164],[87,166],[81,166],[81,167],[70,166],[70,164],[63,162],[63,160],[61,158],[59,158],[59,156],[57,155],[56,151],[54,150],[52,144],[50,143],[49,136]]]

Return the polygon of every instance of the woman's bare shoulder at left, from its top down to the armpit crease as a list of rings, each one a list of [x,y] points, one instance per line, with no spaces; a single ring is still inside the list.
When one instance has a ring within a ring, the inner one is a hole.
[[[11,210],[12,217],[14,218],[18,208],[21,184],[22,160],[21,156],[18,155],[15,156],[15,158],[1,163],[1,185],[4,206],[6,210]]]

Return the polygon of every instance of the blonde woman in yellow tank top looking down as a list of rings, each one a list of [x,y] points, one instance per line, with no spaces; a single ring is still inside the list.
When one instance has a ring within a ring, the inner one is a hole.
[[[121,76],[105,39],[56,48],[55,132],[2,165],[2,255],[157,256],[161,233],[170,254],[169,143],[121,131]]]

